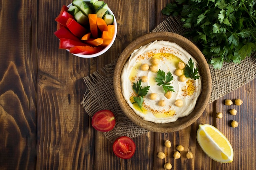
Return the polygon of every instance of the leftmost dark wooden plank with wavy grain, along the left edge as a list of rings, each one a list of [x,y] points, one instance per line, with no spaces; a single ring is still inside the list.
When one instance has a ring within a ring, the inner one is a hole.
[[[0,169],[36,167],[36,3],[0,1]]]

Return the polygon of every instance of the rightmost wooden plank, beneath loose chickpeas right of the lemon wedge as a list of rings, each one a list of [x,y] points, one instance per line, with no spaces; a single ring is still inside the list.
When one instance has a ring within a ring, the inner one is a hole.
[[[254,169],[256,155],[254,150],[256,149],[255,142],[255,110],[256,110],[256,79],[252,80],[248,84],[245,84],[241,88],[223,96],[216,104],[218,112],[223,113],[222,119],[217,119],[217,128],[226,135],[234,149],[234,161],[233,163],[216,163],[216,166],[221,169]],[[225,99],[231,99],[234,103],[234,99],[242,99],[243,104],[236,106],[226,106],[224,104]],[[230,109],[236,109],[237,115],[231,115]],[[231,121],[236,120],[238,127],[231,127]]]

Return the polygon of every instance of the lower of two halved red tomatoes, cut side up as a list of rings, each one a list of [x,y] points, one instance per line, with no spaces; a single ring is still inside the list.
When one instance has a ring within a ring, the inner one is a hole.
[[[117,138],[112,147],[115,155],[122,159],[130,159],[135,153],[135,148],[134,141],[127,136]]]

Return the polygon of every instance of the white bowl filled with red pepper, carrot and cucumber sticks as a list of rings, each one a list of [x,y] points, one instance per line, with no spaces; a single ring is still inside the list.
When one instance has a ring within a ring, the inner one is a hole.
[[[100,0],[73,0],[56,17],[59,49],[83,58],[97,57],[110,49],[117,21],[108,4]]]

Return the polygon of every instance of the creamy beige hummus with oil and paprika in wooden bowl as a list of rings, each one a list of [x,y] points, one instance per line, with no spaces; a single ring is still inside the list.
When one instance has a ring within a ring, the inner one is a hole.
[[[158,60],[157,65],[154,65],[155,62],[152,64],[152,58]],[[184,77],[184,68],[180,69],[178,65],[180,63],[184,67],[190,59],[196,68],[195,58],[187,51],[173,42],[162,40],[156,40],[133,51],[121,73],[121,90],[128,105],[144,120],[159,124],[173,122],[179,117],[189,115],[195,108],[201,93],[201,77],[198,79],[185,77],[184,80],[181,80],[180,76]],[[148,65],[149,69],[142,69],[142,65],[143,67]],[[171,92],[171,97],[166,98],[163,87],[157,85],[155,68],[157,71],[159,69],[164,71],[165,75],[168,72],[172,74],[173,79],[170,85],[173,86],[175,92]],[[182,75],[175,72],[177,69],[181,70]],[[134,103],[133,97],[137,94],[132,85],[133,83],[136,84],[142,77],[144,78],[144,81],[141,82],[142,88],[149,86],[149,90],[144,96],[140,108],[137,103]],[[155,94],[154,98],[152,98],[152,93]]]

